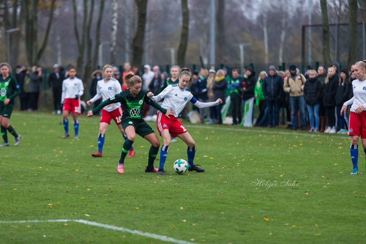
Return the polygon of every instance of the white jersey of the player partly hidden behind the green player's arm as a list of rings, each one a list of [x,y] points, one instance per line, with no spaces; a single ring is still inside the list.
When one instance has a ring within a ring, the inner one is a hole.
[[[107,82],[104,79],[98,80],[97,82],[97,94],[90,99],[91,102],[95,102],[102,97],[102,100],[105,101],[108,98],[120,93],[122,91],[121,84],[115,78],[111,78]],[[105,106],[103,109],[111,112],[121,106],[120,102],[116,102],[112,106]]]

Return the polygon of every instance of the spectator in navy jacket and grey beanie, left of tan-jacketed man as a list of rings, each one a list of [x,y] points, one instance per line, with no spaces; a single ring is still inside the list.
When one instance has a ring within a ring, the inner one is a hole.
[[[280,97],[283,93],[283,79],[277,75],[276,67],[269,66],[269,76],[264,78],[262,83],[262,91],[266,97],[268,107],[268,125],[267,127],[275,126],[278,128],[280,120]],[[273,120],[273,109],[275,118]]]

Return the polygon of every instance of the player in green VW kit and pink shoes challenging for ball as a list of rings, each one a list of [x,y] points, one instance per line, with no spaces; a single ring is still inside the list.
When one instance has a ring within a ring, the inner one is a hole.
[[[151,143],[149,159],[145,172],[156,173],[158,172],[158,169],[154,168],[154,160],[159,151],[160,141],[156,136],[154,130],[143,119],[143,104],[144,102],[146,102],[157,110],[163,112],[168,118],[169,115],[173,115],[173,112],[172,110],[166,110],[164,108],[161,108],[160,105],[147,97],[147,92],[141,89],[142,80],[139,76],[128,73],[124,76],[124,82],[128,87],[127,90],[124,90],[121,93],[108,98],[95,109],[89,111],[87,116],[91,117],[105,106],[120,102],[123,109],[121,123],[122,128],[124,129],[124,133],[127,135],[127,139],[123,143],[121,158],[118,162],[118,173],[124,173],[124,158],[126,158],[126,155],[130,150],[132,143],[134,143],[136,134],[138,134],[142,138],[145,138]]]

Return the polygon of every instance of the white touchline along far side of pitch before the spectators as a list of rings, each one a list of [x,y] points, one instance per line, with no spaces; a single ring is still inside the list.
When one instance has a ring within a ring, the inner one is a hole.
[[[49,114],[46,114],[46,113],[38,113],[38,114],[34,114],[34,113],[20,113],[20,112],[15,112],[15,113],[12,113],[13,115],[25,115],[25,116],[28,116],[28,117],[41,117],[41,118],[49,118],[50,116],[55,116],[55,117],[59,117],[60,121],[62,121],[62,116],[61,115],[49,115]],[[99,123],[99,119],[100,119],[100,116],[94,116],[94,117],[97,117],[98,120],[95,121],[95,123]],[[79,116],[78,117],[78,120],[90,120],[91,118],[87,118],[87,117],[84,117],[84,116]],[[91,119],[93,120],[93,119]],[[149,123],[149,121],[148,121]],[[153,124],[156,124],[156,123],[153,123]],[[213,130],[217,130],[217,129],[220,129],[220,130],[225,130],[225,131],[243,131],[243,132],[252,132],[252,133],[265,133],[265,134],[279,134],[279,135],[296,135],[296,136],[313,136],[314,138],[316,137],[322,137],[322,138],[338,138],[338,139],[347,139],[348,138],[348,135],[347,134],[344,134],[344,136],[337,136],[337,134],[335,135],[332,135],[332,134],[314,134],[314,133],[294,133],[294,132],[284,132],[284,131],[272,131],[272,130],[258,130],[258,129],[245,129],[246,127],[221,127],[221,126],[217,126],[217,127],[213,127],[213,126],[209,126],[209,125],[194,125],[194,124],[186,124],[184,125],[184,127],[188,127],[188,128],[198,128],[198,129],[213,129]],[[338,134],[339,135],[339,134]]]

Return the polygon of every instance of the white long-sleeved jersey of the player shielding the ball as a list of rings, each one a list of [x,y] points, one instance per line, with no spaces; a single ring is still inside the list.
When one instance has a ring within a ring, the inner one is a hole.
[[[186,89],[181,90],[178,84],[167,86],[159,95],[153,96],[151,100],[158,102],[164,98],[164,102],[161,105],[162,108],[170,109],[174,113],[174,117],[178,117],[182,112],[184,106],[190,101],[198,108],[207,108],[219,104],[219,100],[216,102],[199,102],[193,97],[190,91]]]

